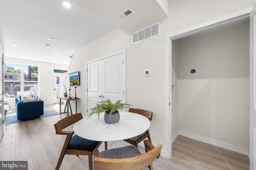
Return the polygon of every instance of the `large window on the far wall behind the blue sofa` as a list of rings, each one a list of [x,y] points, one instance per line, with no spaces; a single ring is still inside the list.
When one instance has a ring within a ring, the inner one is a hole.
[[[16,98],[21,92],[38,95],[38,66],[4,64],[4,94]]]

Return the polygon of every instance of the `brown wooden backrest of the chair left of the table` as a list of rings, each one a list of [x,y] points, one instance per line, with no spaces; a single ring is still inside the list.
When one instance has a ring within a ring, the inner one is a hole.
[[[76,123],[77,121],[83,118],[82,113],[76,113],[74,115],[70,115],[68,117],[64,117],[60,119],[57,123],[54,124],[56,132],[62,131],[66,127]]]

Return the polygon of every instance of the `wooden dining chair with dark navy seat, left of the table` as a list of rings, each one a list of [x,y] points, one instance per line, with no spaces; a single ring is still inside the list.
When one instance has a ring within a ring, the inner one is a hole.
[[[98,149],[102,142],[83,139],[77,135],[73,135],[74,131],[63,131],[63,129],[72,125],[73,123],[76,123],[82,118],[82,113],[77,113],[68,117],[64,117],[54,124],[57,135],[67,135],[55,170],[60,169],[60,165],[65,154],[74,154],[76,156],[88,155],[89,169],[92,170],[93,150]]]

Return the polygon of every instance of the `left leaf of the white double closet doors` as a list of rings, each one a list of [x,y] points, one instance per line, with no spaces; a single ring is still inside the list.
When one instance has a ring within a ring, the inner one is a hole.
[[[102,62],[87,64],[87,114],[90,109],[102,101]]]

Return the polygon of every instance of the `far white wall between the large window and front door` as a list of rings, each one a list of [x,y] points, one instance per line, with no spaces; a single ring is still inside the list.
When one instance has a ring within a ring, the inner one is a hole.
[[[40,72],[39,98],[44,101],[44,105],[53,104],[53,69],[68,70],[68,65],[24,60],[12,57],[5,57],[5,62],[38,65]]]

